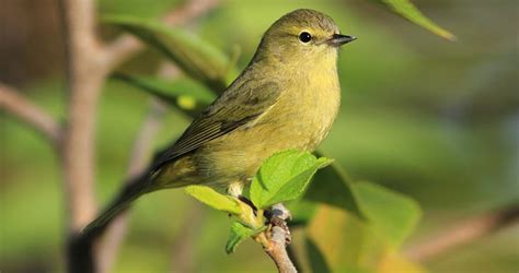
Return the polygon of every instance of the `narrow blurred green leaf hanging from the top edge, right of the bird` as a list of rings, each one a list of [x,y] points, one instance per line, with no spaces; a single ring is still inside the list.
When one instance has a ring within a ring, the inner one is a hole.
[[[407,19],[408,21],[428,29],[429,32],[441,36],[449,40],[454,40],[455,36],[449,31],[437,25],[430,19],[425,16],[412,2],[411,0],[377,0],[378,2],[385,3],[391,10]]]

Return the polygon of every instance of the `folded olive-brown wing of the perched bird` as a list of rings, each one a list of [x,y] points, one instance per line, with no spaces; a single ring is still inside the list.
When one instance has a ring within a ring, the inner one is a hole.
[[[244,81],[233,84],[201,115],[181,138],[163,152],[153,164],[153,170],[178,156],[195,151],[208,141],[224,135],[268,110],[280,95],[276,83]]]

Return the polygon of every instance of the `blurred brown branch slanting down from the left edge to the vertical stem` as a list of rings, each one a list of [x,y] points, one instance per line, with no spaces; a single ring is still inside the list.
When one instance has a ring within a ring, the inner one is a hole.
[[[0,109],[19,118],[58,147],[61,139],[60,124],[44,109],[25,98],[21,92],[0,83]]]

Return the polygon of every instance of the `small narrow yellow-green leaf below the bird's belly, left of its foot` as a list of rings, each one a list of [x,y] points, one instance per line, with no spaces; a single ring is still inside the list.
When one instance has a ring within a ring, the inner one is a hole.
[[[218,193],[207,186],[188,186],[186,192],[216,210],[232,214],[241,213],[240,205],[233,198]]]

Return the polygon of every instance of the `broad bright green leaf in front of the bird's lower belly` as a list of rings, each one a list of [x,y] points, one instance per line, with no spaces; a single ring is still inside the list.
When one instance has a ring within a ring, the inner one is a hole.
[[[332,163],[308,152],[288,150],[268,157],[254,177],[250,197],[260,209],[301,195],[318,169]]]

